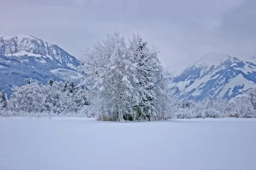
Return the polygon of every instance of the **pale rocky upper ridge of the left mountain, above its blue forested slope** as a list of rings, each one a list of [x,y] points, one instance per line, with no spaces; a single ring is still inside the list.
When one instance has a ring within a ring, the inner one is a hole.
[[[70,68],[78,65],[77,59],[58,47],[58,45],[24,34],[19,34],[15,37],[0,36],[0,54],[18,57],[42,57],[43,60],[41,62],[44,62],[46,58],[55,59],[61,65]]]

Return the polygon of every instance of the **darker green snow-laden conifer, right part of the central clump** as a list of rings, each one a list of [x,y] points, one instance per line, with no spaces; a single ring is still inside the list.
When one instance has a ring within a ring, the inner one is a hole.
[[[130,40],[130,54],[133,57],[135,72],[135,105],[134,108],[150,121],[150,118],[157,115],[154,99],[156,97],[156,85],[163,81],[163,68],[157,58],[158,51],[149,48],[147,42],[138,35]]]

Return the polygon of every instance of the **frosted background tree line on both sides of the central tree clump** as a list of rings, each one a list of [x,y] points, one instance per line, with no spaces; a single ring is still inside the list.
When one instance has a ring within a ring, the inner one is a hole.
[[[111,120],[108,113],[96,102],[87,101],[89,91],[74,82],[64,84],[50,79],[46,85],[38,85],[28,80],[22,87],[14,87],[12,98],[0,93],[0,116],[79,116]],[[177,101],[171,98],[157,98],[157,114],[152,119],[192,119],[192,118],[253,118],[256,117],[256,88],[248,91],[247,96],[228,101],[214,100],[209,96],[201,102]],[[125,120],[134,120],[132,114],[123,115]],[[146,118],[144,118],[146,119]]]

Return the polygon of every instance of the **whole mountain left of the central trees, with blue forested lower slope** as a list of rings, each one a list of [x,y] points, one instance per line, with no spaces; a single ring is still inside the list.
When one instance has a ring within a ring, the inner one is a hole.
[[[8,96],[12,85],[24,85],[28,78],[40,83],[50,78],[79,79],[78,65],[78,60],[58,45],[24,34],[0,36],[0,91]]]

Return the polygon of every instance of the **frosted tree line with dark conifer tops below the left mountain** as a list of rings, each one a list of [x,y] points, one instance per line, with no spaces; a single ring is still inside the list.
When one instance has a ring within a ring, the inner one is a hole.
[[[87,115],[90,113],[83,112],[89,106],[83,86],[75,85],[73,81],[63,84],[53,79],[49,79],[46,85],[38,85],[32,79],[27,82],[26,85],[12,88],[10,100],[2,92],[2,113],[5,111],[5,114],[12,116],[39,116],[41,113],[45,116],[82,116],[86,113],[84,116],[91,116]]]

